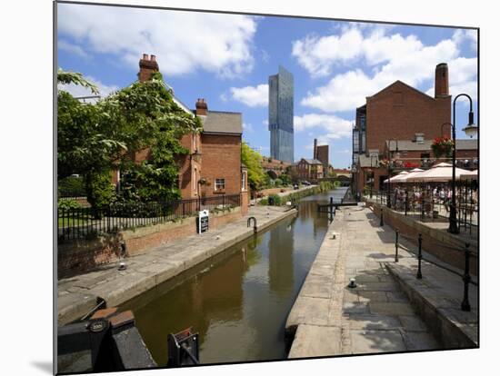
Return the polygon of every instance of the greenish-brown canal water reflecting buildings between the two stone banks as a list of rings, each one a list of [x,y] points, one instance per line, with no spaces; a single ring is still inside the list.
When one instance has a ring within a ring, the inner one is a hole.
[[[125,303],[158,365],[167,334],[188,327],[200,335],[201,363],[284,359],[285,321],[329,224],[316,203],[345,190],[305,197],[296,217]]]

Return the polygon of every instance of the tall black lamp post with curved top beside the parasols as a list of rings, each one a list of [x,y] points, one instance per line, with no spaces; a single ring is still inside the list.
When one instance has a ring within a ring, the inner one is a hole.
[[[455,164],[456,164],[456,100],[461,96],[467,97],[469,100],[469,123],[462,129],[466,135],[469,137],[474,137],[477,134],[478,127],[474,124],[474,112],[472,110],[472,98],[467,94],[458,94],[455,96],[453,101],[453,123],[445,123],[441,125],[441,134],[443,134],[443,125],[451,125],[452,127],[452,141],[453,141],[453,152],[452,152],[452,203],[450,204],[450,225],[448,227],[448,233],[460,233],[460,229],[456,225],[456,195],[455,195]]]

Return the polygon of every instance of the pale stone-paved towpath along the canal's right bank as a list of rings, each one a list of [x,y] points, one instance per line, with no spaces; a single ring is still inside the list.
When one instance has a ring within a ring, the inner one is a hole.
[[[443,333],[421,319],[421,310],[404,293],[400,280],[415,280],[416,247],[402,242],[395,264],[395,233],[387,225],[380,227],[374,213],[363,207],[335,213],[286,322],[288,335],[295,335],[289,358],[450,347]],[[389,272],[386,265],[397,267]],[[393,278],[398,272],[405,275]],[[463,292],[460,277],[427,262],[423,274],[424,279],[417,282],[423,291],[441,302],[446,298],[447,309],[457,313]],[[357,284],[354,289],[347,287],[351,278]],[[471,287],[473,312],[468,314],[476,322],[477,292]],[[432,306],[432,299],[427,302]],[[437,319],[434,311],[431,317]],[[475,329],[474,325],[468,328]]]

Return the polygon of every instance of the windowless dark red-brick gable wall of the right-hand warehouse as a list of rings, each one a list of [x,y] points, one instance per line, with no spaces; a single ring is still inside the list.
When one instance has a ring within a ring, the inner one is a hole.
[[[441,124],[450,122],[451,97],[432,98],[396,82],[366,98],[367,149],[383,152],[385,140],[411,140],[415,133],[425,139],[441,135]],[[450,136],[445,127],[445,136]]]

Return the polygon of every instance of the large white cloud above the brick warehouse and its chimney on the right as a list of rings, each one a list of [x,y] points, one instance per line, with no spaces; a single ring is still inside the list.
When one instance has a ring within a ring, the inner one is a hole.
[[[356,35],[356,38],[362,36],[347,54],[324,51],[328,43],[333,43],[325,38],[340,43],[344,35],[316,37],[314,41],[306,37],[303,40],[307,42],[306,47],[304,43],[299,44],[301,54],[306,56],[298,58],[299,64],[315,76],[328,74],[334,64],[351,64],[356,58],[363,59],[371,71],[355,69],[336,74],[327,84],[309,92],[301,104],[329,113],[354,111],[365,103],[366,96],[376,94],[396,80],[414,87],[433,85],[435,65],[442,62],[449,66],[451,94],[454,94],[455,87],[471,87],[475,83],[477,60],[460,57],[453,38],[435,45],[423,45],[415,35],[385,35],[385,29],[375,29],[370,35],[363,36],[359,30],[351,28],[345,34]]]

